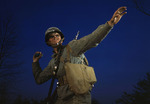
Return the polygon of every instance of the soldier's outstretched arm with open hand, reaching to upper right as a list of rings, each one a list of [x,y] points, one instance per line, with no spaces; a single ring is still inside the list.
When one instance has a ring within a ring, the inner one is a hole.
[[[118,8],[113,14],[110,21],[108,21],[107,23],[103,25],[100,25],[91,34],[79,40],[71,41],[69,45],[72,48],[75,55],[80,55],[86,52],[88,49],[97,46],[107,36],[107,34],[112,29],[112,27],[120,21],[120,19],[122,18],[124,14],[127,13],[125,12],[125,10],[127,10],[126,7]]]

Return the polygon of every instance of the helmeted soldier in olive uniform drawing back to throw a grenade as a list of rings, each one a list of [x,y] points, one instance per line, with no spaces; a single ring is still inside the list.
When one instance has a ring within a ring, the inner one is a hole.
[[[82,37],[76,41],[70,41],[68,45],[74,54],[70,56],[70,62],[75,64],[81,64],[85,62],[84,53],[92,47],[97,46],[110,32],[115,24],[117,24],[121,17],[126,14],[126,7],[120,7],[113,14],[110,21],[106,22],[103,25],[98,26],[98,28],[93,31],[91,34]],[[45,42],[48,46],[53,48],[54,54],[52,59],[49,62],[48,66],[42,70],[39,64],[39,59],[42,57],[41,52],[36,52],[39,54],[33,56],[33,75],[37,84],[42,84],[53,76],[59,81],[59,86],[57,88],[57,100],[55,104],[91,104],[91,94],[88,91],[86,94],[75,94],[70,90],[70,87],[64,79],[65,70],[64,63],[60,61],[60,57],[66,57],[66,47],[62,45],[64,40],[64,35],[60,29],[56,27],[51,27],[45,32]],[[80,59],[79,59],[80,57]],[[57,69],[57,70],[56,70]]]

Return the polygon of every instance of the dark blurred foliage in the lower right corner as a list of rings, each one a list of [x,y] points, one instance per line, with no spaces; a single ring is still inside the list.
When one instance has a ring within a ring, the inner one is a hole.
[[[150,73],[134,86],[131,94],[124,92],[116,104],[150,104]]]

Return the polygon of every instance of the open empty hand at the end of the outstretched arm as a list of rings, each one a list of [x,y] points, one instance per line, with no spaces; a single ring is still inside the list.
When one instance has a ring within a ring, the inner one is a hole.
[[[114,13],[114,15],[112,16],[112,18],[110,19],[110,21],[108,21],[108,24],[110,26],[114,26],[115,24],[117,24],[122,18],[122,16],[127,14],[127,12],[125,12],[126,10],[127,10],[127,7],[118,8],[116,12]]]

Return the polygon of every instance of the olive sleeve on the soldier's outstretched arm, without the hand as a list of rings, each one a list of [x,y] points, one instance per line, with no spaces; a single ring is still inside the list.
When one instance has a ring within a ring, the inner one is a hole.
[[[108,23],[100,25],[91,34],[84,36],[79,40],[71,41],[69,46],[72,48],[74,54],[79,56],[88,49],[96,47],[107,36],[111,29],[112,27],[109,26]]]

